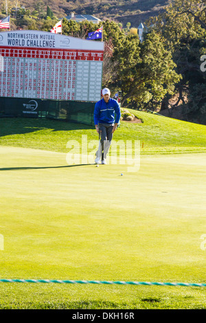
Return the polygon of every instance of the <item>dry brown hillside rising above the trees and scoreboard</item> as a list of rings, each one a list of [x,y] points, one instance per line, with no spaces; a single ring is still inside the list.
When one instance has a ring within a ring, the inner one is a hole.
[[[75,14],[92,14],[102,20],[111,19],[122,23],[130,22],[131,27],[138,27],[139,23],[144,22],[150,16],[157,15],[170,0],[21,0],[25,8],[34,10],[36,5],[40,8],[49,5],[54,14],[60,18],[71,12]]]

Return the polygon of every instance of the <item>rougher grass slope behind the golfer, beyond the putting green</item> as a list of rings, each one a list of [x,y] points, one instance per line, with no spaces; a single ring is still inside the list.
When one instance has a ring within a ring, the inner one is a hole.
[[[122,121],[120,128],[114,134],[114,140],[117,142],[119,140],[140,140],[141,154],[206,151],[206,126],[141,111],[135,111],[135,115],[143,122],[128,124]],[[81,142],[82,135],[87,135],[89,141],[98,140],[98,134],[93,126],[55,120],[0,119],[0,144],[4,146],[66,153],[68,140]]]

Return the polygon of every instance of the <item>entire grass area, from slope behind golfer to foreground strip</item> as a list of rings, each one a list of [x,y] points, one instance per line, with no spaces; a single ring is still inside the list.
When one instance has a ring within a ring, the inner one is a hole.
[[[142,124],[115,133],[140,131],[137,172],[67,164],[69,139],[97,136],[89,126],[0,119],[1,278],[205,282],[205,126],[138,115]],[[206,297],[200,287],[1,283],[0,309],[206,309]]]

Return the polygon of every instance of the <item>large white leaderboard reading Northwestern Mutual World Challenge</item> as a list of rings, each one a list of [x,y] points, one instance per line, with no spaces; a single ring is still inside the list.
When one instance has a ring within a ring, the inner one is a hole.
[[[31,30],[1,32],[0,96],[100,100],[103,55],[104,43],[99,41]]]

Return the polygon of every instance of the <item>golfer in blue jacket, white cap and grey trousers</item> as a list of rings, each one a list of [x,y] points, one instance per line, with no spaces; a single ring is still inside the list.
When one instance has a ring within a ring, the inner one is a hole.
[[[117,100],[110,97],[110,90],[103,89],[102,96],[103,98],[95,104],[94,109],[95,129],[100,136],[100,146],[96,152],[95,164],[100,164],[100,161],[102,164],[106,164],[106,154],[121,116],[119,104]]]

